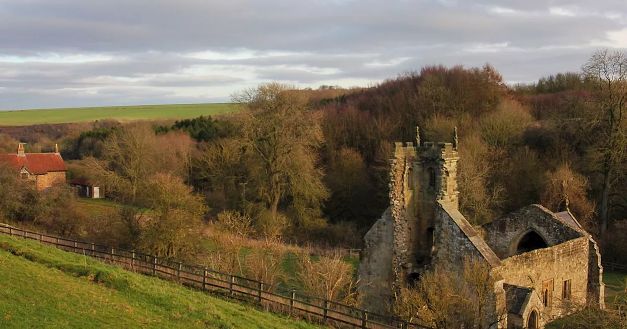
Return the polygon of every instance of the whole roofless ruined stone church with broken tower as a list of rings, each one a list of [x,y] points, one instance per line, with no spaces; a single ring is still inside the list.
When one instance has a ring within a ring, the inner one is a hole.
[[[523,207],[482,227],[458,210],[457,131],[450,142],[396,143],[389,163],[390,206],[364,237],[359,264],[364,307],[384,311],[399,287],[426,271],[463,271],[485,262],[495,279],[495,328],[543,328],[566,305],[604,308],[599,249],[568,209]],[[463,196],[462,196],[463,197]]]

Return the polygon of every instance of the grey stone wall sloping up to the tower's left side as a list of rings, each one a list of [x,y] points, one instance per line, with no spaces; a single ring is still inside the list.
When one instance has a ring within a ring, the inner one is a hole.
[[[392,300],[393,248],[394,219],[388,207],[364,236],[359,258],[359,293],[364,295],[362,308],[366,310],[384,311],[386,301]]]

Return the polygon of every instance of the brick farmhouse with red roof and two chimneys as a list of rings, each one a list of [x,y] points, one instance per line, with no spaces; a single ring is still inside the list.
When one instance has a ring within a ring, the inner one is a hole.
[[[48,191],[56,183],[65,183],[65,162],[55,144],[55,152],[24,153],[24,146],[18,144],[15,154],[0,154],[0,162],[13,167],[21,179],[33,184],[40,191]]]

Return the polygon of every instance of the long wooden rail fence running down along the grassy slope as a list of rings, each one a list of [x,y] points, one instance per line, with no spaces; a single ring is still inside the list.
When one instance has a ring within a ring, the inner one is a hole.
[[[213,271],[202,266],[139,253],[134,250],[76,241],[38,232],[24,231],[0,224],[0,233],[16,238],[39,241],[58,249],[84,254],[105,263],[122,266],[137,273],[171,279],[182,285],[203,291],[220,293],[238,300],[257,303],[268,311],[288,313],[319,321],[325,325],[350,328],[426,329],[424,326],[389,316],[370,313],[335,301],[310,296],[282,286],[270,285],[253,279]]]

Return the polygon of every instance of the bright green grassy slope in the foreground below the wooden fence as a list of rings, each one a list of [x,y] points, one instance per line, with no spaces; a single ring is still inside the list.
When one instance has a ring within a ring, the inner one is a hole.
[[[315,328],[0,236],[0,328]]]

